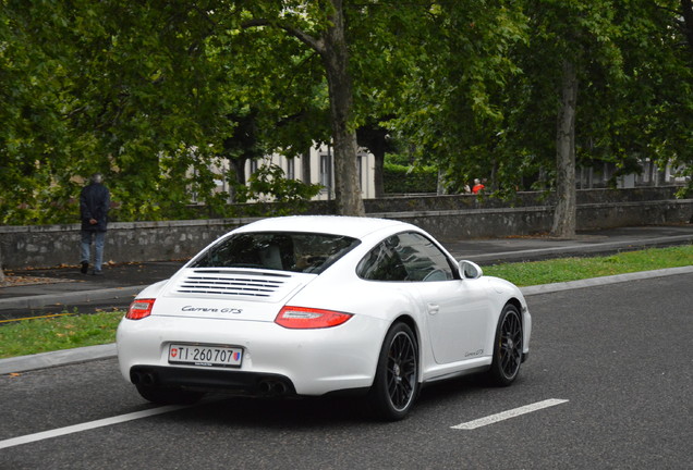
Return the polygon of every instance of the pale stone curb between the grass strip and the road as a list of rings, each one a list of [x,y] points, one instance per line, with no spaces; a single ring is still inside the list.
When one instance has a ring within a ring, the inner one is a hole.
[[[693,265],[682,268],[668,268],[655,271],[641,271],[629,274],[617,274],[604,277],[593,277],[582,281],[571,281],[564,283],[543,284],[536,286],[521,287],[524,296],[551,294],[556,292],[570,290],[584,287],[604,286],[630,281],[649,280],[654,277],[666,277],[678,274],[693,273]],[[107,289],[113,290],[113,289]],[[21,373],[36,369],[46,369],[56,366],[66,366],[75,362],[85,362],[97,359],[110,359],[118,355],[114,343],[87,346],[74,349],[63,349],[52,352],[41,352],[32,356],[20,356],[9,359],[0,359],[0,375],[9,373]]]

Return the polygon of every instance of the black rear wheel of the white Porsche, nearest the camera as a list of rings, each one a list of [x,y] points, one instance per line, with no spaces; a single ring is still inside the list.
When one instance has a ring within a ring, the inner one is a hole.
[[[385,336],[368,399],[381,419],[403,419],[418,393],[418,347],[404,323],[392,325]]]

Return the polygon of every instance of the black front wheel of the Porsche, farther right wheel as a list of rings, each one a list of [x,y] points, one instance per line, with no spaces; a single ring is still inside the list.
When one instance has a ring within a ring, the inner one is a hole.
[[[522,363],[522,318],[518,308],[508,304],[498,319],[496,341],[494,342],[494,360],[488,371],[493,385],[508,386],[520,373]]]

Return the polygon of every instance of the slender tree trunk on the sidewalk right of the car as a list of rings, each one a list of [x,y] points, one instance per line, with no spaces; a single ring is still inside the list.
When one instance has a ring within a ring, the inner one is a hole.
[[[556,210],[551,235],[575,236],[578,217],[575,189],[575,106],[578,76],[574,65],[563,62],[562,100],[556,133]]]

